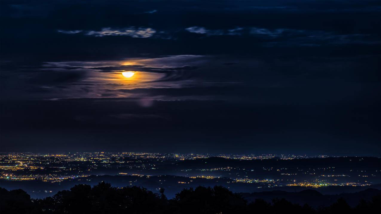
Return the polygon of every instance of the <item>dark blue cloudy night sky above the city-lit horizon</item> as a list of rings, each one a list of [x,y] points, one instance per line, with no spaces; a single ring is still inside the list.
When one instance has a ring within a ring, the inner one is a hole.
[[[0,4],[0,152],[381,155],[380,1]]]

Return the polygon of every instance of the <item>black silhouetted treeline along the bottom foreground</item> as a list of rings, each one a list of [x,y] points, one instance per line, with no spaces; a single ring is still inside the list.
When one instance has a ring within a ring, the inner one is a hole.
[[[184,189],[168,200],[142,187],[116,188],[101,182],[94,187],[75,185],[52,197],[31,199],[24,190],[0,188],[0,213],[379,213],[381,196],[360,201],[351,208],[344,199],[329,207],[314,209],[285,199],[248,203],[222,186]]]

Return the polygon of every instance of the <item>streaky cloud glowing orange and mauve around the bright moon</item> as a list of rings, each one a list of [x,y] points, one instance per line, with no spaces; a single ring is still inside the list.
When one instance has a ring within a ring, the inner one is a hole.
[[[177,99],[190,96],[189,93],[184,96],[176,93],[177,88],[190,87],[190,84],[192,87],[203,85],[201,81],[195,81],[197,78],[193,78],[192,74],[211,57],[173,55],[126,58],[122,61],[44,62],[40,72],[29,75],[29,82],[36,88],[36,96],[43,99],[152,96]],[[46,71],[49,71],[48,75]],[[133,77],[123,77],[122,72],[125,71],[133,71]],[[167,88],[173,92],[165,96],[161,93],[165,89],[156,88]]]

